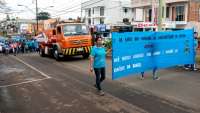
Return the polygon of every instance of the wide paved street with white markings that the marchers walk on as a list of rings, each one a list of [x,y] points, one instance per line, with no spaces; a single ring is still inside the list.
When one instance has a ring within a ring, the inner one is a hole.
[[[0,113],[198,113],[198,72],[173,68],[161,79],[130,76],[111,80],[108,59],[105,96],[97,95],[88,60],[57,62],[37,54],[0,56]],[[187,81],[187,82],[186,82]]]

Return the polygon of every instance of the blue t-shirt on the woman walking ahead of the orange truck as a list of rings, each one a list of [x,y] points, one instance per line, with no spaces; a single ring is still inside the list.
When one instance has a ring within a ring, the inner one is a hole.
[[[106,66],[106,50],[104,47],[92,47],[90,56],[94,58],[94,68],[102,68]]]

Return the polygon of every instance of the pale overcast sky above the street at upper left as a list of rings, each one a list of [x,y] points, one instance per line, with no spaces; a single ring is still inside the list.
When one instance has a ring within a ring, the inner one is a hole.
[[[35,0],[5,0],[7,6],[12,9],[11,18],[25,19],[35,18]],[[88,0],[38,0],[39,11],[47,11],[52,17],[76,18],[81,15],[81,2]],[[23,5],[23,6],[18,6]],[[53,6],[53,7],[50,7]],[[0,18],[5,18],[1,14]]]

